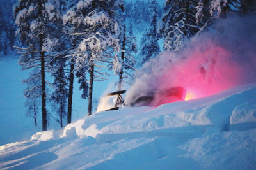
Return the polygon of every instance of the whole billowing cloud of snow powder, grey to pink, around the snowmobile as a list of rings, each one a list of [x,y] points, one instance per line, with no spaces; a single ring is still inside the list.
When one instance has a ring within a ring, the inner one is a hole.
[[[256,16],[228,16],[191,38],[179,54],[163,52],[136,74],[125,104],[141,94],[183,87],[187,97],[209,96],[256,81]]]

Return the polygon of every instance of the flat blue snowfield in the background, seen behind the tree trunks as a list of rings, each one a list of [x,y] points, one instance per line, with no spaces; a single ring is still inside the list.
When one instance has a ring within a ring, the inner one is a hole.
[[[19,57],[8,55],[0,59],[0,146],[15,141],[24,141],[31,138],[33,134],[41,131],[41,118],[38,116],[38,127],[35,127],[33,118],[26,116],[25,97],[23,94],[26,84],[22,80],[28,78],[29,71],[21,71],[18,64]],[[48,80],[51,76],[47,75]],[[112,76],[106,81],[95,81],[93,98],[99,99],[104,91],[112,90],[111,82],[116,82]],[[113,84],[113,83],[112,83]],[[108,87],[109,86],[109,87]],[[74,82],[74,96],[72,108],[72,121],[79,120],[87,115],[87,101],[81,99],[77,80]],[[49,103],[47,103],[48,109]],[[50,129],[57,129],[60,125],[52,118]]]

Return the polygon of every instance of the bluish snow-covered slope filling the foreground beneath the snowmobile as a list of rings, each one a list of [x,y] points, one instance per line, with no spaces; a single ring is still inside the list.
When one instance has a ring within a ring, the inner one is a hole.
[[[0,148],[0,169],[256,169],[256,85],[103,111]]]

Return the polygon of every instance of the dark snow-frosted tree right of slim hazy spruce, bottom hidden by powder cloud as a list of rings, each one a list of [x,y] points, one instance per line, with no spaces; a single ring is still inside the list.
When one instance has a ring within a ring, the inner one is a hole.
[[[164,38],[164,49],[178,52],[184,46],[184,40],[196,34],[195,0],[168,0],[164,6],[164,15],[159,31]]]

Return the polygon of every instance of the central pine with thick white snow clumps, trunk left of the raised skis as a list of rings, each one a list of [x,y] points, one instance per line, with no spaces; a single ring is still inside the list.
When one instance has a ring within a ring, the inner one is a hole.
[[[107,73],[101,71],[109,62],[111,49],[118,51],[120,26],[116,10],[122,8],[121,0],[79,1],[67,11],[63,18],[65,24],[73,25],[70,35],[79,36],[81,42],[74,52],[74,71],[83,70],[83,76],[90,74],[88,92],[88,116],[92,114],[93,81],[104,80]]]

